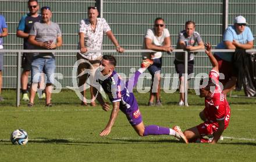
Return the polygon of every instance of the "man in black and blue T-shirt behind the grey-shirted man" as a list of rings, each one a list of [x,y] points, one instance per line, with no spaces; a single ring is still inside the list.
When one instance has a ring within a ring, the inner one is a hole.
[[[25,14],[22,19],[20,19],[19,26],[17,28],[16,35],[20,38],[23,38],[23,49],[33,49],[33,45],[30,45],[28,42],[29,32],[33,27],[35,22],[41,20],[41,15],[38,14],[39,4],[37,0],[29,0],[27,2],[29,13]],[[32,53],[23,53],[22,56],[22,77],[20,79],[22,83],[22,100],[29,101],[29,91],[27,90],[28,78],[31,71],[31,63],[33,61]],[[41,82],[40,89],[43,86]],[[45,93],[42,91],[42,98],[45,98]]]

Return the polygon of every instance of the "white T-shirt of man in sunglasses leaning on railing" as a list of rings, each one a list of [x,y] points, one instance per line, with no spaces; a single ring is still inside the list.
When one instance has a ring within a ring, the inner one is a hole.
[[[152,28],[152,29],[147,30],[144,38],[151,39],[153,45],[163,46],[163,41],[165,41],[165,38],[169,37],[169,36],[170,36],[169,30],[166,29],[166,28],[163,29],[163,32],[162,32],[161,36],[156,36],[155,35],[155,30],[154,30],[154,28]],[[143,42],[143,49],[145,49],[145,42]],[[162,57],[162,52],[158,51],[154,55],[155,55],[155,57],[153,59],[161,58]],[[144,57],[150,57],[150,53],[143,53],[143,56]]]

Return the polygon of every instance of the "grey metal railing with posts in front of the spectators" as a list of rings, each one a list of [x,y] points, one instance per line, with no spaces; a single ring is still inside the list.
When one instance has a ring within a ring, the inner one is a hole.
[[[256,52],[256,49],[246,50],[247,52]],[[17,84],[16,84],[16,106],[20,105],[20,69],[21,69],[21,56],[22,53],[77,53],[80,50],[1,50],[1,53],[17,53]],[[88,52],[102,52],[102,53],[116,53],[116,50],[88,50]],[[155,52],[154,50],[125,50],[125,53],[148,53]],[[187,60],[188,60],[188,52],[180,49],[175,49],[173,52],[184,52],[185,53],[185,74],[184,74],[184,105],[187,105]],[[194,50],[193,52],[204,52],[204,50]],[[226,49],[213,49],[212,52],[234,52],[234,50],[226,50]]]

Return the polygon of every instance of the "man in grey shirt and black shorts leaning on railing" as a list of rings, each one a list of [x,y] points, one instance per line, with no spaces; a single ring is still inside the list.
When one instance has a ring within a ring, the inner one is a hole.
[[[197,43],[198,46],[195,46]],[[194,21],[187,21],[185,24],[185,30],[179,33],[179,37],[177,40],[177,49],[183,49],[187,51],[204,49],[204,42],[202,42],[200,34],[195,31],[195,23]],[[185,53],[175,53],[175,69],[176,72],[179,73],[179,81],[180,81],[180,106],[184,105],[184,58]],[[187,73],[193,73],[194,71],[194,54],[189,52],[188,57],[188,68]],[[188,83],[188,82],[187,82]],[[189,84],[187,84],[188,87]],[[187,105],[188,106],[188,105]]]

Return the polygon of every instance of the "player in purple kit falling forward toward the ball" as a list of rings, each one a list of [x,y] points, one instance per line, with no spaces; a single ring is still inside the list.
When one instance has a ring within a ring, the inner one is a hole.
[[[99,134],[100,136],[106,136],[111,132],[111,128],[115,123],[116,117],[118,116],[119,109],[125,113],[131,126],[140,136],[147,135],[173,135],[178,139],[182,139],[188,143],[183,132],[179,126],[173,128],[159,127],[156,125],[144,126],[140,110],[134,94],[132,92],[133,87],[138,82],[138,77],[143,73],[150,65],[152,60],[144,60],[133,76],[125,83],[122,78],[116,73],[116,59],[113,56],[104,55],[101,61],[100,69],[95,73],[95,82],[93,83],[94,94],[97,96],[98,102],[101,104],[104,111],[109,111],[109,105],[105,102],[101,94],[97,94],[97,90],[102,86],[105,93],[108,95],[109,100],[112,102],[113,109],[111,112],[110,119],[104,130]]]

